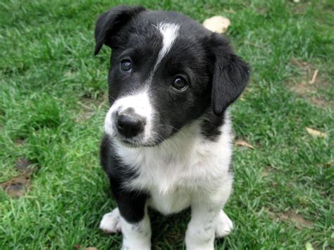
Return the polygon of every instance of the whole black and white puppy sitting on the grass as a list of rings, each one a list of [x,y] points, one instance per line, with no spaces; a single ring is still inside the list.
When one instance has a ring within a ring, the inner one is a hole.
[[[233,228],[222,210],[233,183],[226,108],[247,85],[247,64],[221,35],[175,12],[111,8],[95,38],[95,54],[112,49],[101,165],[118,204],[100,228],[121,231],[123,249],[150,249],[147,207],[191,207],[187,249],[214,249]]]

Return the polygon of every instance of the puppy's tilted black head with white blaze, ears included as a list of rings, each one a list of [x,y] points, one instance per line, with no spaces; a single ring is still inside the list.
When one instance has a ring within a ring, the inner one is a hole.
[[[128,146],[154,146],[204,112],[223,115],[249,80],[228,42],[179,13],[118,6],[95,28],[112,55],[105,132]]]

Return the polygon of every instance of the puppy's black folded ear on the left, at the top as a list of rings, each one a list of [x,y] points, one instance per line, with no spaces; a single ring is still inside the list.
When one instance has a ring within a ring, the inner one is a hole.
[[[99,54],[103,44],[111,46],[112,36],[116,35],[123,25],[142,11],[145,11],[145,8],[140,6],[117,6],[102,13],[97,19],[97,25],[95,26],[96,45],[94,55]]]

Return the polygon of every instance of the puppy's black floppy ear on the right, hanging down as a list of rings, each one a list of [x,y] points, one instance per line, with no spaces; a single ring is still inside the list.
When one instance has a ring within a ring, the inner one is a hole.
[[[222,115],[237,99],[249,80],[250,69],[245,61],[235,54],[228,42],[216,33],[209,43],[213,63],[211,106],[216,115]]]

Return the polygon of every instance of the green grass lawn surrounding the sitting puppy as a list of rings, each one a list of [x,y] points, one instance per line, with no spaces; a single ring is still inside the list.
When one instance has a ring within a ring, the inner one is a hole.
[[[0,189],[0,249],[120,247],[120,235],[98,229],[115,203],[98,152],[109,50],[93,57],[93,30],[99,13],[121,2],[0,3],[0,182],[19,175],[18,158],[39,168],[19,199]],[[235,230],[216,248],[333,248],[333,1],[126,2],[200,22],[225,15],[228,39],[252,65],[233,120],[236,137],[255,149],[235,148],[234,191],[225,206]],[[323,105],[292,91],[305,80],[292,58],[319,70],[315,96]],[[305,127],[328,136],[312,137]],[[189,218],[153,213],[154,249],[184,248]]]

